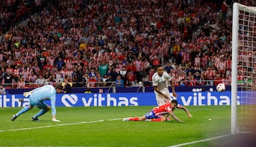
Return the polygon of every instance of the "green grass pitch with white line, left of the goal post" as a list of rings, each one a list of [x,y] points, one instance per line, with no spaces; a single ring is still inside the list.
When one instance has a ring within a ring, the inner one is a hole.
[[[62,122],[51,122],[51,112],[39,117],[39,122],[32,122],[36,107],[11,122],[11,115],[21,107],[0,108],[0,146],[173,146],[230,134],[230,106],[187,107],[192,118],[183,110],[175,110],[183,123],[174,119],[122,122],[124,117],[140,117],[151,108],[57,107],[57,119]],[[100,119],[105,121],[92,122]],[[189,146],[215,146],[214,142]]]

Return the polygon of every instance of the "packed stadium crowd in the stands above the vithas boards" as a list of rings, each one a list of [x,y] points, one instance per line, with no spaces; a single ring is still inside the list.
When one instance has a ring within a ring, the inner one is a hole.
[[[253,0],[238,2],[255,5]],[[0,3],[0,81],[6,87],[65,80],[76,87],[110,86],[121,80],[119,86],[150,86],[159,64],[176,86],[230,85],[229,1]]]

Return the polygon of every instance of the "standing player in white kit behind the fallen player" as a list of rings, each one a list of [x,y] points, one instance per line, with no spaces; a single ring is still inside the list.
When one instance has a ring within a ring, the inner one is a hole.
[[[171,76],[166,71],[164,71],[163,66],[157,66],[156,73],[154,73],[154,75],[152,76],[152,84],[154,86],[154,93],[156,94],[157,105],[163,105],[165,102],[171,101],[169,82],[171,83],[171,90],[174,97],[177,97],[174,87],[174,81],[172,81]],[[186,107],[177,105],[177,108],[184,110],[186,114],[188,114],[188,117],[193,117],[190,112],[188,112]]]

